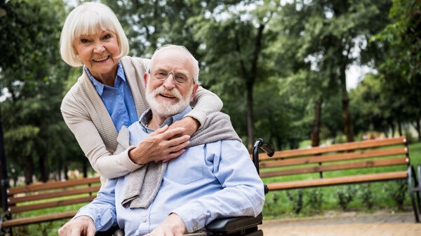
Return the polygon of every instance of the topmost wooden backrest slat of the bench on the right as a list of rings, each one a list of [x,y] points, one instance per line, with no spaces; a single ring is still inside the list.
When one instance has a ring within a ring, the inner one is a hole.
[[[291,158],[291,157],[298,157],[302,155],[317,155],[320,153],[351,151],[351,150],[356,150],[356,149],[361,149],[361,148],[375,148],[378,146],[392,146],[396,144],[406,144],[406,137],[354,141],[354,142],[345,143],[345,144],[332,144],[330,146],[323,146],[323,147],[276,151],[274,155],[272,156],[272,158]],[[259,160],[266,160],[266,159],[269,159],[269,157],[266,154],[261,153],[259,155]]]

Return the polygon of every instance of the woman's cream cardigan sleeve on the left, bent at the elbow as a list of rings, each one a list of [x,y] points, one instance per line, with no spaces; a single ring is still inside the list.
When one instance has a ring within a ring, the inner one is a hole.
[[[135,146],[130,146],[116,155],[112,155],[107,150],[100,132],[88,115],[88,111],[72,95],[72,90],[63,99],[61,111],[65,123],[73,132],[91,166],[100,176],[112,179],[142,167],[142,165],[136,165],[128,157],[128,151]]]

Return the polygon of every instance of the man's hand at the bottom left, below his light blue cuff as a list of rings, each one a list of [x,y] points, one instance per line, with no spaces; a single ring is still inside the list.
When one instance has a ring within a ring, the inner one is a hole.
[[[95,236],[95,225],[89,216],[79,216],[58,230],[60,236]]]

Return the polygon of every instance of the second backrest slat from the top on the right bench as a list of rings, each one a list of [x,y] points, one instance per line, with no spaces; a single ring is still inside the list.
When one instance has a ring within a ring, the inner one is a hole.
[[[375,150],[368,150],[368,151],[357,151],[353,153],[312,155],[310,157],[305,157],[305,158],[288,158],[288,159],[283,159],[283,160],[273,160],[273,158],[271,158],[270,160],[260,162],[259,166],[260,168],[287,167],[287,166],[292,166],[292,165],[303,165],[303,164],[309,164],[309,163],[334,162],[338,160],[377,158],[377,157],[385,157],[388,155],[406,155],[406,154],[408,154],[408,148],[397,147],[397,148],[387,148],[387,149],[375,149]]]

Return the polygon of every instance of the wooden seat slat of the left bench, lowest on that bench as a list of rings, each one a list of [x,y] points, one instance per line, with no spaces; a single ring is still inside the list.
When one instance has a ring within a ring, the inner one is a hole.
[[[6,227],[13,227],[17,225],[27,225],[30,223],[41,223],[45,221],[55,221],[55,220],[61,220],[65,218],[72,218],[74,215],[76,215],[77,211],[66,211],[66,212],[60,212],[55,214],[48,214],[44,216],[30,216],[27,218],[13,218],[8,221],[3,221],[1,223],[1,228]]]

